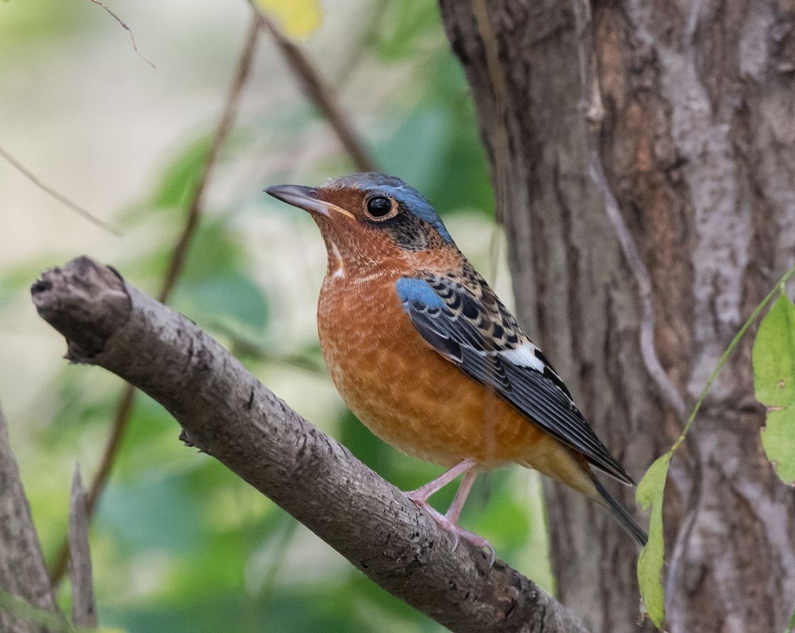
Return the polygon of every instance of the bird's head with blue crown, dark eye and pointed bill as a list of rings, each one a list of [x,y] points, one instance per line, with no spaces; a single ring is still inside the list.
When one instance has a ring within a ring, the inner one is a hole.
[[[394,176],[366,172],[324,187],[277,185],[265,191],[312,214],[330,266],[339,257],[367,271],[390,258],[455,246],[428,200]]]

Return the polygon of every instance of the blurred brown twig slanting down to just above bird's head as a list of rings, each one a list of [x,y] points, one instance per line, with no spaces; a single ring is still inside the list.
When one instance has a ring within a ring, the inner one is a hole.
[[[249,4],[258,11],[254,2],[249,0]],[[355,164],[360,172],[374,172],[375,163],[370,157],[370,154],[364,149],[359,137],[356,135],[353,126],[344,116],[343,111],[339,108],[332,91],[325,85],[320,73],[312,65],[312,62],[304,54],[304,52],[284,33],[281,29],[265,14],[259,13],[260,23],[264,26],[273,41],[281,50],[281,54],[285,57],[287,65],[293,74],[301,81],[307,98],[315,104],[318,110],[332,126],[339,142],[342,143],[348,156]]]

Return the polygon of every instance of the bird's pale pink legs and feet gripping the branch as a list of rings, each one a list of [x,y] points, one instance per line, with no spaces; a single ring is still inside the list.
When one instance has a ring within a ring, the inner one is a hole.
[[[461,511],[463,510],[463,504],[466,503],[467,496],[469,495],[469,491],[472,488],[472,484],[475,483],[475,478],[478,476],[478,473],[474,473],[472,471],[472,467],[475,465],[475,463],[476,462],[471,459],[460,461],[451,469],[445,471],[439,477],[436,477],[436,479],[433,481],[429,481],[429,483],[417,488],[417,490],[406,492],[405,496],[409,497],[409,499],[417,504],[419,508],[422,508],[428,512],[432,519],[439,524],[439,527],[453,535],[456,540],[453,542],[452,551],[456,551],[456,547],[458,547],[460,539],[463,538],[465,541],[471,542],[480,549],[485,548],[488,550],[491,553],[490,564],[494,565],[494,546],[492,546],[491,543],[482,536],[478,536],[470,531],[464,530],[463,527],[458,525],[458,519],[461,515]],[[440,511],[437,511],[436,508],[433,508],[431,504],[428,503],[428,500],[430,496],[432,496],[435,492],[439,492],[442,488],[444,488],[444,486],[453,481],[461,473],[464,473],[463,480],[461,481],[458,491],[456,492],[455,498],[452,500],[452,504],[450,504],[447,514],[443,515]]]

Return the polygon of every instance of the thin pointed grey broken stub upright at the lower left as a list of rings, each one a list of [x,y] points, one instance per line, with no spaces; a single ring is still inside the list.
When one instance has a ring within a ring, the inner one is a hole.
[[[69,496],[69,576],[72,578],[72,623],[77,627],[95,628],[97,611],[88,546],[88,507],[80,465],[75,466]]]

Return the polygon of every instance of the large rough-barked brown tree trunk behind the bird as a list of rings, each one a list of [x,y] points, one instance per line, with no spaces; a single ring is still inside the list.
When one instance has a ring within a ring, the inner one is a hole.
[[[491,158],[518,315],[639,478],[793,264],[795,8],[441,9]],[[673,459],[669,631],[783,631],[795,608],[795,494],[762,453],[750,345]],[[611,491],[634,507],[633,491]],[[559,485],[545,493],[560,600],[595,631],[638,631],[629,539]]]

